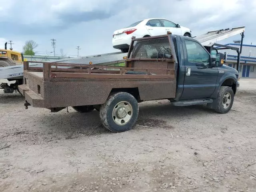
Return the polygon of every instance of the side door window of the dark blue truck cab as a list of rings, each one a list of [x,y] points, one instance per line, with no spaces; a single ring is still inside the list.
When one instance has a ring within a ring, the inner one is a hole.
[[[204,48],[197,42],[185,40],[188,62],[210,65],[210,55]]]

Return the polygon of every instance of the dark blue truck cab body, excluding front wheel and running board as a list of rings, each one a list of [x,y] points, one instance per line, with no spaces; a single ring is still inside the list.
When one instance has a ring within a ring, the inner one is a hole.
[[[238,71],[223,65],[224,54],[218,53],[212,46],[202,46],[193,38],[173,38],[177,50],[180,50],[176,53],[178,72],[175,100],[216,98],[221,86],[230,86],[236,93]]]

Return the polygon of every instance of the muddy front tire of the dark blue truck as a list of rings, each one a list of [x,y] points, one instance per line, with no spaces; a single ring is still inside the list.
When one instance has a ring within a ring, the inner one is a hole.
[[[225,104],[225,98],[226,96],[230,97],[230,103],[227,105]],[[228,86],[221,86],[218,96],[216,98],[216,107],[215,111],[221,114],[227,113],[232,108],[234,102],[234,92],[231,87]],[[225,108],[225,107],[226,108]]]

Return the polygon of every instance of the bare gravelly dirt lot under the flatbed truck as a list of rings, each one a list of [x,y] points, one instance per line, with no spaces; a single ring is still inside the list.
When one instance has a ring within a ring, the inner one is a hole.
[[[0,191],[255,192],[256,80],[240,84],[228,114],[144,102],[118,134],[96,110],[25,110],[0,90]]]

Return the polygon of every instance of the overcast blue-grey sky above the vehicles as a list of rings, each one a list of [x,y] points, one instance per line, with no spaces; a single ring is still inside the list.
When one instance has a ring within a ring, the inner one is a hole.
[[[0,4],[0,48],[14,41],[22,51],[26,40],[36,51],[60,49],[68,55],[116,52],[114,30],[146,18],[166,18],[190,28],[193,36],[210,30],[246,26],[245,44],[256,45],[256,0],[6,0]],[[240,35],[225,41],[240,39]],[[9,48],[9,47],[8,47]]]

